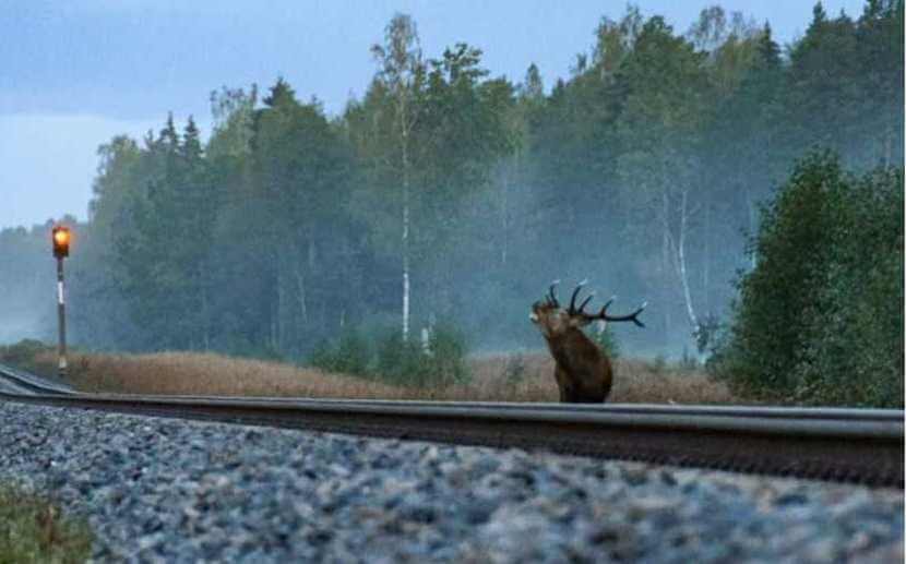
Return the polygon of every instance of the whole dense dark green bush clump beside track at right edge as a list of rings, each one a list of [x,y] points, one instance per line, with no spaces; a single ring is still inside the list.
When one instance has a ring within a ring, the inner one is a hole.
[[[813,153],[762,213],[711,369],[807,404],[903,406],[903,172]]]

